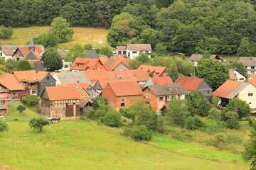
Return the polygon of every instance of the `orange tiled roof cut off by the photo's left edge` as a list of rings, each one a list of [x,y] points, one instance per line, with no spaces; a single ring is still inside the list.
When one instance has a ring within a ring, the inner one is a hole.
[[[14,74],[1,74],[0,75],[0,84],[5,86],[7,89],[11,91],[23,90],[24,87],[22,84],[16,79]]]

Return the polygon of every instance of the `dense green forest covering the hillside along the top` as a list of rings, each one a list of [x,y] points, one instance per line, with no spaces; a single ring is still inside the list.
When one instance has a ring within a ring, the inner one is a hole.
[[[0,0],[4,26],[49,25],[110,28],[109,45],[151,43],[166,51],[256,56],[255,1],[250,0]]]

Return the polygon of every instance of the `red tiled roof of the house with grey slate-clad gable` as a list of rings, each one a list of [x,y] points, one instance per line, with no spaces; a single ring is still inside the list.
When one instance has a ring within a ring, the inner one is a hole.
[[[191,91],[192,89],[198,89],[200,84],[202,84],[204,79],[194,78],[194,77],[178,77],[176,79],[176,84],[181,84],[187,91]]]

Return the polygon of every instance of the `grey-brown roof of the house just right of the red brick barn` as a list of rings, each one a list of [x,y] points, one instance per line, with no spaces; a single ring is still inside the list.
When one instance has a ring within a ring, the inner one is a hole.
[[[150,89],[156,96],[186,94],[188,91],[181,86],[181,84],[162,84],[162,85],[149,85],[146,88]],[[145,89],[146,89],[145,88]]]

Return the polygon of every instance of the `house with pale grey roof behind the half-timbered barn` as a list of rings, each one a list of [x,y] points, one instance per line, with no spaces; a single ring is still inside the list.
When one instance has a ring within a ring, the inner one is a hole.
[[[88,83],[92,84],[91,81],[87,78],[84,72],[51,72],[53,78],[56,80],[56,86],[59,84],[70,84],[70,83]]]

